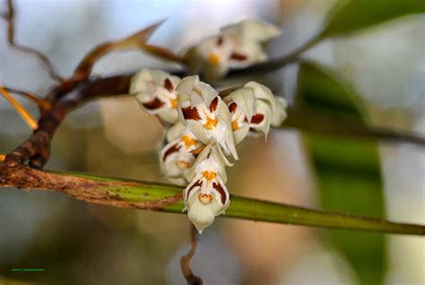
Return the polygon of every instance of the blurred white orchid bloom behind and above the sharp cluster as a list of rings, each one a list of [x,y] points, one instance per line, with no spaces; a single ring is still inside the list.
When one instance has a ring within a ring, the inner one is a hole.
[[[186,57],[192,73],[204,73],[210,79],[221,78],[230,68],[242,68],[265,61],[262,43],[279,35],[277,27],[246,20],[221,28],[218,35],[201,41]]]

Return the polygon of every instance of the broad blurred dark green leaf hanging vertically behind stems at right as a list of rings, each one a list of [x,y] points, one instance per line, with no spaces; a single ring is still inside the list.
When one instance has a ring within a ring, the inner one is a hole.
[[[366,124],[359,95],[334,74],[312,63],[300,66],[297,104]],[[385,203],[377,142],[329,134],[304,137],[316,170],[323,209],[383,219]],[[332,230],[330,238],[357,272],[361,284],[383,283],[386,273],[383,235]]]

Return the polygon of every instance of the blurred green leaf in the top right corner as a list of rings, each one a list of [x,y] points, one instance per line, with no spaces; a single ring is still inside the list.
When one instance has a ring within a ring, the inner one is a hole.
[[[415,13],[425,13],[423,0],[340,0],[318,39],[335,37]]]

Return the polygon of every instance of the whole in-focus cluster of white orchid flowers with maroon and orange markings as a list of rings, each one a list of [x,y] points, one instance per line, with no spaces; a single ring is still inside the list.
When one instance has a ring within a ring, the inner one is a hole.
[[[160,168],[170,181],[186,186],[185,210],[199,232],[230,205],[225,168],[239,159],[239,142],[249,135],[266,137],[270,125],[286,117],[285,100],[257,82],[222,95],[197,75],[180,79],[143,69],[132,78],[130,92],[144,111],[169,125]]]

